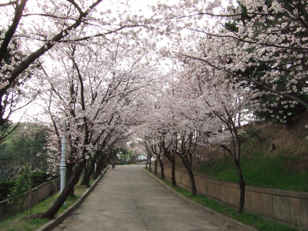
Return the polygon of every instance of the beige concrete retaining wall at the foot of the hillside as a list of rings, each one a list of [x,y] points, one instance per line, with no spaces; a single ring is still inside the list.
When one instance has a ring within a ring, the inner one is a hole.
[[[160,172],[160,167],[157,166]],[[164,168],[171,178],[171,169]],[[191,189],[188,174],[176,171],[176,181]],[[197,192],[237,207],[239,186],[235,183],[195,177]],[[271,188],[245,187],[244,209],[261,216],[308,228],[308,193]]]

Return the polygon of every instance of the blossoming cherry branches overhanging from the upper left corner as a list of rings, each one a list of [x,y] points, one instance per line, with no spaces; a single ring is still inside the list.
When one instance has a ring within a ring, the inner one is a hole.
[[[148,31],[158,29],[150,26],[151,20],[132,14],[129,2],[115,5],[105,1],[104,8],[100,7],[101,2],[18,0],[0,5],[1,127],[7,128],[12,113],[34,100],[36,94],[29,92],[33,85],[29,80],[49,66],[51,60],[46,54],[61,50],[65,44],[96,38],[112,42],[108,35],[124,30],[124,36],[136,40],[141,26]]]

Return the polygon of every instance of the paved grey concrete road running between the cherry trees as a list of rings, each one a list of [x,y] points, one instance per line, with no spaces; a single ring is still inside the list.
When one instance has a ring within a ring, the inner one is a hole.
[[[54,231],[225,230],[211,217],[172,196],[142,170],[109,168],[83,204]]]

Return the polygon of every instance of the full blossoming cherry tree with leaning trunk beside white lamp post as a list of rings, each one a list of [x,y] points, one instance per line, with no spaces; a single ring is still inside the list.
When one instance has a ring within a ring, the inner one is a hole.
[[[68,44],[51,56],[57,67],[50,73],[42,71],[46,88],[42,98],[52,99],[46,112],[66,124],[70,156],[77,164],[63,193],[42,217],[54,216],[90,161],[84,178],[88,184],[98,155],[126,139],[129,128],[138,123],[135,112],[142,105],[136,99],[159,81],[148,50],[139,44],[123,34],[95,43]]]

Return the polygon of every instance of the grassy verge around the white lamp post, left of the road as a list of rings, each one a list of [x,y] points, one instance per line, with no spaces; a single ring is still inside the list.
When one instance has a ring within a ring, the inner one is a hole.
[[[94,180],[90,181],[90,185]],[[75,197],[68,197],[66,200],[66,206],[62,206],[58,211],[56,216],[62,213],[65,209],[70,207],[77,199],[87,190],[88,188],[80,187],[79,185],[75,187]],[[59,192],[52,197],[48,197],[46,200],[40,202],[32,208],[32,215],[45,213],[48,208],[55,202]],[[30,217],[29,211],[24,211],[8,219],[0,221],[1,231],[34,231],[50,221],[50,219],[38,219]]]

